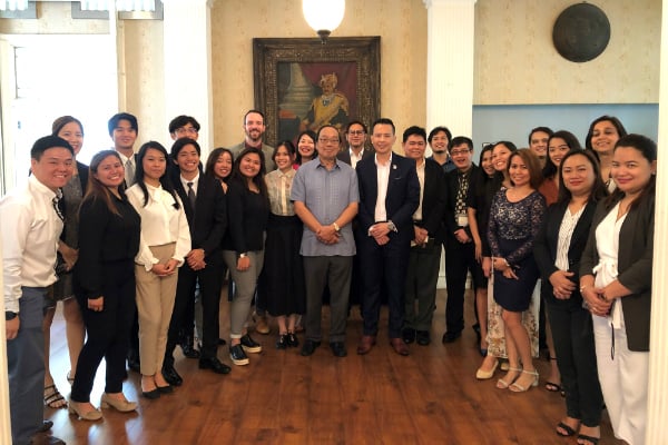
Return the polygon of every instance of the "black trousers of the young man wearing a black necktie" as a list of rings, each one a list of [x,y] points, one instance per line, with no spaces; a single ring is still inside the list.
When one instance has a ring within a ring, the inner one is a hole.
[[[199,281],[202,298],[202,358],[216,357],[219,337],[220,290],[223,289],[223,256],[214,251],[205,258],[206,267],[193,270],[186,261],[178,269],[176,298],[167,332],[164,366],[174,365],[174,349],[184,326],[193,328],[195,290]]]

